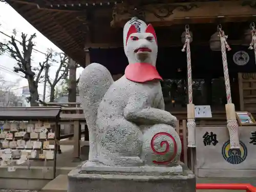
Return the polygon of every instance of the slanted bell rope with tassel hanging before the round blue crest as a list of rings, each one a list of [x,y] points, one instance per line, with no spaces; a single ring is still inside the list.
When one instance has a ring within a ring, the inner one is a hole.
[[[238,135],[239,134],[238,123],[236,119],[236,111],[234,109],[234,104],[232,103],[232,99],[231,99],[230,82],[229,82],[228,67],[227,67],[226,49],[230,51],[231,48],[229,47],[226,41],[228,36],[225,35],[224,31],[222,31],[220,26],[218,26],[218,30],[219,30],[220,40],[221,40],[221,53],[222,53],[222,62],[223,62],[226,96],[227,96],[226,116],[227,116],[227,129],[228,129],[229,138],[230,138],[230,148],[240,148],[239,135]]]

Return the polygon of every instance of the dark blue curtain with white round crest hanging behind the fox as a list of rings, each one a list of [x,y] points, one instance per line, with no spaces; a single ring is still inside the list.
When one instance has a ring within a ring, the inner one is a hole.
[[[229,74],[238,72],[256,72],[253,50],[248,46],[230,46],[231,51],[226,51]],[[211,51],[209,45],[194,46],[191,48],[191,63],[193,78],[203,78],[207,74],[218,77],[223,76],[222,55],[220,51]],[[182,47],[167,47],[158,49],[157,69],[163,78],[186,78],[187,61],[186,52]],[[249,61],[245,66],[238,66],[233,62],[233,55],[238,51],[245,51],[249,55]],[[128,65],[123,48],[91,49],[91,62],[98,62],[114,74],[123,74]],[[177,69],[181,72],[177,72]]]

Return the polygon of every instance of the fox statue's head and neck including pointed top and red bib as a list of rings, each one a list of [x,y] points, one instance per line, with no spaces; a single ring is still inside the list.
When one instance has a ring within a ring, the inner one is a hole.
[[[123,28],[123,48],[129,65],[124,75],[134,82],[162,80],[156,69],[157,37],[153,26],[133,17]]]

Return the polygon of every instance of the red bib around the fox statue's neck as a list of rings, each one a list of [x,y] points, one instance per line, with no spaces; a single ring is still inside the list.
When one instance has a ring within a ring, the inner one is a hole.
[[[132,63],[129,64],[124,72],[127,79],[134,82],[146,82],[154,79],[163,80],[157,72],[156,67],[150,63]]]

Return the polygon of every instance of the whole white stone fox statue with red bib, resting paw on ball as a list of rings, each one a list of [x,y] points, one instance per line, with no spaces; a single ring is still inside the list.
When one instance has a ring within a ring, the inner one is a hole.
[[[181,141],[176,117],[164,111],[156,70],[157,38],[152,25],[125,32],[129,60],[125,74],[113,81],[110,72],[91,63],[80,76],[79,91],[89,129],[86,163],[109,166],[176,165]]]

